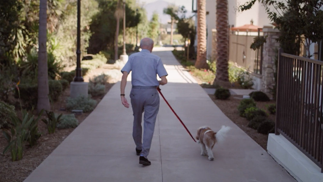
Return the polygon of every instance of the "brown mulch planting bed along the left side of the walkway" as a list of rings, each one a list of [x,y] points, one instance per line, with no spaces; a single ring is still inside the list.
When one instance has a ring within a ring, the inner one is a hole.
[[[114,85],[114,82],[106,83],[106,93]],[[66,99],[69,97],[70,89],[66,89],[60,96],[59,100],[51,104],[51,110],[55,113],[70,114],[69,111],[61,111],[66,108]],[[92,99],[98,101],[102,100],[103,96],[93,97]],[[75,115],[79,123],[90,114],[83,113]],[[46,114],[45,114],[46,115]],[[47,116],[43,116],[46,118]],[[0,181],[1,182],[21,182],[24,181],[30,173],[42,163],[45,158],[74,130],[74,128],[56,129],[54,134],[48,134],[46,124],[41,120],[38,122],[38,129],[42,136],[38,139],[38,143],[33,146],[25,146],[23,158],[19,161],[12,162],[10,151],[2,155],[2,151],[7,145],[7,141],[3,134],[0,134]]]

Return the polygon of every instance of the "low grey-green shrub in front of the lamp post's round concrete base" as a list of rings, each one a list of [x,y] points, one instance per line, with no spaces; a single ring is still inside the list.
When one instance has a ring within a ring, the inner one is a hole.
[[[93,100],[90,97],[80,95],[75,98],[68,97],[66,108],[70,111],[74,109],[79,109],[83,110],[83,112],[90,112],[93,111],[96,104],[96,100]]]

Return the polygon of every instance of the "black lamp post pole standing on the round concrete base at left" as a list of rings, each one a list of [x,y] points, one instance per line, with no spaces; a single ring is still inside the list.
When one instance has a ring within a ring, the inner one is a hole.
[[[74,81],[84,81],[82,77],[82,69],[81,69],[81,50],[80,50],[80,26],[81,26],[81,0],[78,0],[78,27],[77,27],[77,49],[76,49],[76,76],[74,77]]]

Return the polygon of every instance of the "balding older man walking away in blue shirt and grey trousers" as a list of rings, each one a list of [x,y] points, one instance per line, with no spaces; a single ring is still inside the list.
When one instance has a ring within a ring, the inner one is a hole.
[[[131,54],[128,62],[122,68],[121,79],[121,102],[129,108],[129,103],[124,97],[127,77],[130,71],[132,89],[130,91],[131,106],[133,111],[132,137],[136,144],[136,154],[140,155],[139,164],[148,166],[151,162],[147,159],[149,154],[152,135],[154,133],[156,117],[159,110],[159,95],[157,87],[167,83],[168,75],[161,58],[151,54],[154,41],[151,38],[143,38],[140,41],[141,52]],[[157,80],[157,74],[161,80]],[[142,136],[142,112],[144,112],[144,131]]]

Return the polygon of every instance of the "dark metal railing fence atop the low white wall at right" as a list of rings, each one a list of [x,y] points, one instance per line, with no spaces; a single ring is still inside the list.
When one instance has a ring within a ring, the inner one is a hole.
[[[282,134],[323,172],[323,61],[278,53],[275,134]]]

